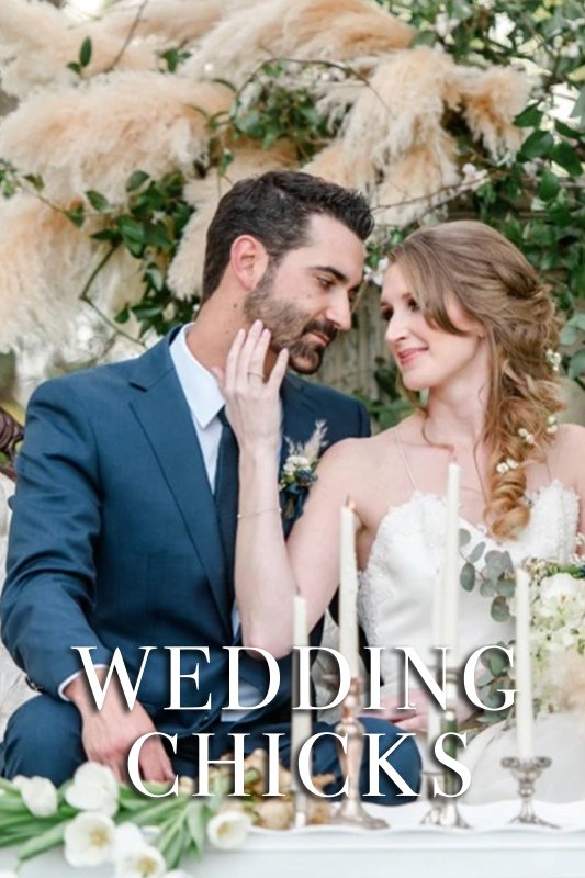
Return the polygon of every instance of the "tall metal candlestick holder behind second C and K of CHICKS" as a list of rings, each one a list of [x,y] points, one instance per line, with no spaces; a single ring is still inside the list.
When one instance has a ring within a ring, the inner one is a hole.
[[[385,830],[390,825],[385,820],[370,817],[360,798],[360,770],[363,753],[364,728],[359,721],[361,710],[361,682],[352,677],[349,691],[341,705],[341,720],[336,725],[336,733],[347,738],[347,748],[338,746],[339,763],[347,778],[347,795],[341,799],[329,823],[345,826],[363,826],[369,830]]]

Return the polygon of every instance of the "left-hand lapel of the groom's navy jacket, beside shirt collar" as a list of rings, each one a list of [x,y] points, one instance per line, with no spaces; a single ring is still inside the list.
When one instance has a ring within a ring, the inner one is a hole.
[[[136,361],[131,407],[177,503],[232,640],[232,601],[213,494],[167,336]]]

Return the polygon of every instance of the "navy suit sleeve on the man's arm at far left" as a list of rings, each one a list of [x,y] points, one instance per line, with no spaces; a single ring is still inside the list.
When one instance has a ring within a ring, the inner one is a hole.
[[[99,460],[70,382],[47,382],[33,395],[16,472],[2,640],[31,680],[57,696],[80,669],[71,646],[94,646],[95,664],[112,656],[88,623],[100,533]]]

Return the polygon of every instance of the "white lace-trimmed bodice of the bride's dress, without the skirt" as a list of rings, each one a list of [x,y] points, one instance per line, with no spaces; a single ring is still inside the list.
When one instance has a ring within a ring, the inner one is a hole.
[[[529,495],[531,515],[517,540],[497,542],[483,525],[460,520],[471,533],[469,554],[479,542],[507,549],[515,564],[529,556],[566,562],[575,550],[578,497],[559,480]],[[401,506],[389,509],[361,574],[359,612],[371,646],[414,646],[430,664],[432,600],[443,560],[446,506],[442,497],[415,491]],[[463,563],[463,562],[462,562]],[[459,661],[480,646],[513,637],[511,624],[490,616],[490,598],[477,587],[459,596]],[[387,689],[398,689],[401,676],[392,649],[382,653],[382,677]]]

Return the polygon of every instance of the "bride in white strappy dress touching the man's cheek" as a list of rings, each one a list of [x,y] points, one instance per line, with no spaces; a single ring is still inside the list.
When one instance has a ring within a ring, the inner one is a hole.
[[[530,556],[566,563],[585,508],[585,428],[556,423],[558,322],[549,291],[488,226],[453,222],[410,235],[392,254],[380,308],[414,414],[324,454],[286,547],[277,469],[285,353],[267,374],[268,330],[255,324],[234,342],[221,380],[240,447],[236,594],[243,642],[277,656],[289,652],[291,595],[306,597],[313,626],[337,588],[339,507],[351,497],[360,521],[361,624],[371,646],[389,648],[382,653],[382,716],[416,732],[424,746],[426,694],[410,699],[415,710],[398,709],[398,668],[390,648],[414,646],[430,662],[449,462],[461,468],[461,527],[471,534],[466,554],[483,542],[506,549],[515,564]],[[487,598],[462,590],[458,661],[513,637],[507,624],[491,618]],[[460,718],[472,709],[462,702]],[[499,768],[506,755],[515,755],[515,741],[502,723],[472,742],[460,756],[472,769],[468,800],[515,795]],[[577,717],[539,719],[537,755],[553,757],[539,796],[585,798],[585,775],[575,770],[585,762]]]

